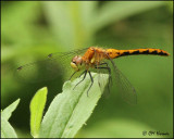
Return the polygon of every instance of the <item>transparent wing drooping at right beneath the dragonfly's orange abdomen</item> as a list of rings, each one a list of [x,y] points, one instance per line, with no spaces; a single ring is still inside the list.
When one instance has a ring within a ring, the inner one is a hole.
[[[122,74],[122,72],[116,67],[113,60],[110,59],[110,61],[113,65],[116,86],[119,87],[122,98],[129,104],[136,104],[137,94],[135,88],[132,86],[128,79]]]

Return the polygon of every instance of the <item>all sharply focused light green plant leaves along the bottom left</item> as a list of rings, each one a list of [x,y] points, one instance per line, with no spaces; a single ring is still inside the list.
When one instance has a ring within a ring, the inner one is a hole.
[[[34,138],[73,138],[80,127],[86,124],[104,90],[104,86],[108,84],[108,75],[102,76],[104,78],[102,87],[99,87],[98,74],[92,73],[92,77],[94,85],[89,90],[89,97],[86,93],[91,84],[89,77],[86,77],[80,86],[75,89],[74,86],[82,78],[66,81],[63,86],[63,92],[55,96],[44,119],[42,113],[47,101],[47,88],[38,90],[30,102],[32,136]],[[2,111],[2,137],[17,137],[8,119],[18,101]]]

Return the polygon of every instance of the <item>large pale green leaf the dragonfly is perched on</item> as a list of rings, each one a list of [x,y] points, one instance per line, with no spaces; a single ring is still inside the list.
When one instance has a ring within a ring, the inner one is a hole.
[[[94,85],[89,90],[89,97],[87,97],[87,90],[91,80],[88,75],[74,90],[73,88],[82,78],[66,81],[63,92],[53,99],[44,116],[39,137],[73,138],[89,118],[103,92],[109,76],[107,74],[102,76],[104,79],[100,88],[98,74],[92,73]]]

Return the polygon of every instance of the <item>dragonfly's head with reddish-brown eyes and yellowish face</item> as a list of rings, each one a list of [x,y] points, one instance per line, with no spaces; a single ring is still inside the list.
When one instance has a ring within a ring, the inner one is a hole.
[[[72,59],[71,66],[75,71],[80,71],[83,65],[83,58],[80,55],[76,55]]]

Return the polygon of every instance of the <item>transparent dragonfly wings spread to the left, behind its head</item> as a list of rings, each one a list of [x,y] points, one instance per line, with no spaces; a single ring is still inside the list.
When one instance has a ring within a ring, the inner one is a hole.
[[[86,50],[87,48],[63,53],[51,53],[42,61],[20,66],[15,70],[14,76],[27,83],[52,80],[59,78],[62,74],[70,76],[74,72],[70,64],[73,56],[83,54]]]

